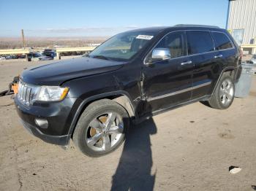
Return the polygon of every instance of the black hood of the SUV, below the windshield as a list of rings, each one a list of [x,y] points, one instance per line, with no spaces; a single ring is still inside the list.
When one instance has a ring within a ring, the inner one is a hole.
[[[107,61],[97,58],[72,58],[26,69],[21,74],[23,82],[31,85],[61,85],[70,79],[114,71],[124,62]]]

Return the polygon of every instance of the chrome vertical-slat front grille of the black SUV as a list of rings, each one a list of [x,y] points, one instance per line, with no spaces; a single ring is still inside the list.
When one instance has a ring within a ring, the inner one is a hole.
[[[29,106],[32,99],[32,90],[33,87],[31,85],[27,85],[22,81],[19,82],[17,98],[22,104]]]

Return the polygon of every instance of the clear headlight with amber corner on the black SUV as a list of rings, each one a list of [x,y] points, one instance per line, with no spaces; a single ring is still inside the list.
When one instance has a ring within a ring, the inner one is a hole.
[[[69,92],[68,87],[42,86],[39,88],[35,101],[61,101]]]

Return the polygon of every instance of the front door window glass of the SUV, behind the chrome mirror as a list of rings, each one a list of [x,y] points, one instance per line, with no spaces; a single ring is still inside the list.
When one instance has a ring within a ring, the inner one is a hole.
[[[155,48],[168,48],[170,57],[176,58],[185,55],[184,52],[184,33],[175,32],[168,34],[163,38]]]

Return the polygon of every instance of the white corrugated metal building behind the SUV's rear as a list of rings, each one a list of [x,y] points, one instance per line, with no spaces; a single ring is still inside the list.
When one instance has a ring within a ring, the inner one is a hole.
[[[245,54],[256,53],[256,0],[229,0],[226,28]]]

